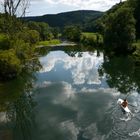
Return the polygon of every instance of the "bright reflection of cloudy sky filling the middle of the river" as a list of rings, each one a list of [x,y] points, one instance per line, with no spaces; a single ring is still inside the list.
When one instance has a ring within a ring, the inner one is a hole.
[[[120,93],[99,76],[103,54],[82,52],[71,57],[54,51],[40,62],[43,68],[35,85],[39,139],[107,139],[113,122],[106,111]]]

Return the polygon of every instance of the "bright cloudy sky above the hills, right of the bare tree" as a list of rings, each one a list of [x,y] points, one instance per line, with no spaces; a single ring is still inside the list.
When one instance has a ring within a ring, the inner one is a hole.
[[[31,0],[26,16],[56,14],[73,10],[106,11],[120,0]]]

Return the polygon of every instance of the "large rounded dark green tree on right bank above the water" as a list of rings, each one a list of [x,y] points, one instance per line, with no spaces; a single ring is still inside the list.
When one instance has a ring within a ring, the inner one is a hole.
[[[107,16],[104,41],[107,49],[125,53],[132,50],[135,39],[135,19],[128,7],[120,7]]]

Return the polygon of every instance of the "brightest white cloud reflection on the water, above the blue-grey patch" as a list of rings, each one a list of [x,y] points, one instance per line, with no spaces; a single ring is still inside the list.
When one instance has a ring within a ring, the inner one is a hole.
[[[55,53],[55,54],[54,54]],[[57,57],[59,55],[59,57]],[[40,73],[54,70],[58,63],[63,63],[65,71],[70,70],[73,83],[80,84],[101,84],[98,74],[98,67],[103,62],[103,55],[96,57],[97,53],[89,54],[84,52],[82,57],[70,57],[63,52],[52,52],[40,59],[43,69]]]

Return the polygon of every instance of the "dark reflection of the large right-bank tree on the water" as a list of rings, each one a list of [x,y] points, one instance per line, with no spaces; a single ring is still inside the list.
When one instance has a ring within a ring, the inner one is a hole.
[[[110,88],[116,88],[124,94],[140,91],[140,67],[135,65],[131,56],[104,55],[104,62],[98,71],[100,76],[106,76]]]

